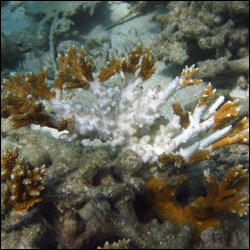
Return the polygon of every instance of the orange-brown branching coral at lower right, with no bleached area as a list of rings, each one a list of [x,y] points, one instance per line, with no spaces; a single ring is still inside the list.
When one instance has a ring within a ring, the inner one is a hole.
[[[186,206],[181,206],[175,200],[178,189],[176,186],[156,177],[145,182],[145,195],[161,218],[178,224],[190,222],[199,236],[209,227],[219,228],[220,215],[236,213],[242,216],[247,213],[248,194],[243,191],[249,182],[246,171],[240,165],[233,167],[220,182],[205,171],[207,195],[198,197]],[[181,178],[177,186],[183,181],[184,178]]]

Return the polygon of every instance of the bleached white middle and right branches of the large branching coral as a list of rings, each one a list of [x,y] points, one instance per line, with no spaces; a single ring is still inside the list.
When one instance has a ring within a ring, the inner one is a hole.
[[[215,92],[211,84],[202,92],[194,111],[188,113],[186,126],[180,114],[174,114],[171,121],[159,122],[159,110],[166,100],[176,91],[200,82],[192,78],[196,71],[194,66],[186,67],[171,83],[148,89],[143,87],[139,74],[132,76],[120,71],[121,80],[115,86],[98,80],[90,83],[89,91],[95,96],[90,107],[74,100],[61,100],[58,93],[50,104],[57,117],[73,121],[73,129],[63,135],[64,139],[98,138],[113,147],[132,149],[143,162],[155,162],[163,153],[189,161],[196,152],[211,152],[213,143],[232,130],[231,125],[215,119],[220,112],[221,116],[231,116],[231,110],[225,114],[219,111],[223,96],[207,106],[207,99]],[[213,126],[218,128],[213,130]]]

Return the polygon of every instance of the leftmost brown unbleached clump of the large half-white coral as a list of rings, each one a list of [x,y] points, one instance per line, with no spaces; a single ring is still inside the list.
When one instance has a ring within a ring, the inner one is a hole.
[[[51,100],[55,93],[50,91],[45,78],[47,72],[34,75],[12,74],[5,80],[2,91],[1,117],[10,118],[10,127],[17,129],[30,124],[56,128],[67,128],[67,121],[56,121],[46,110],[42,100]]]

